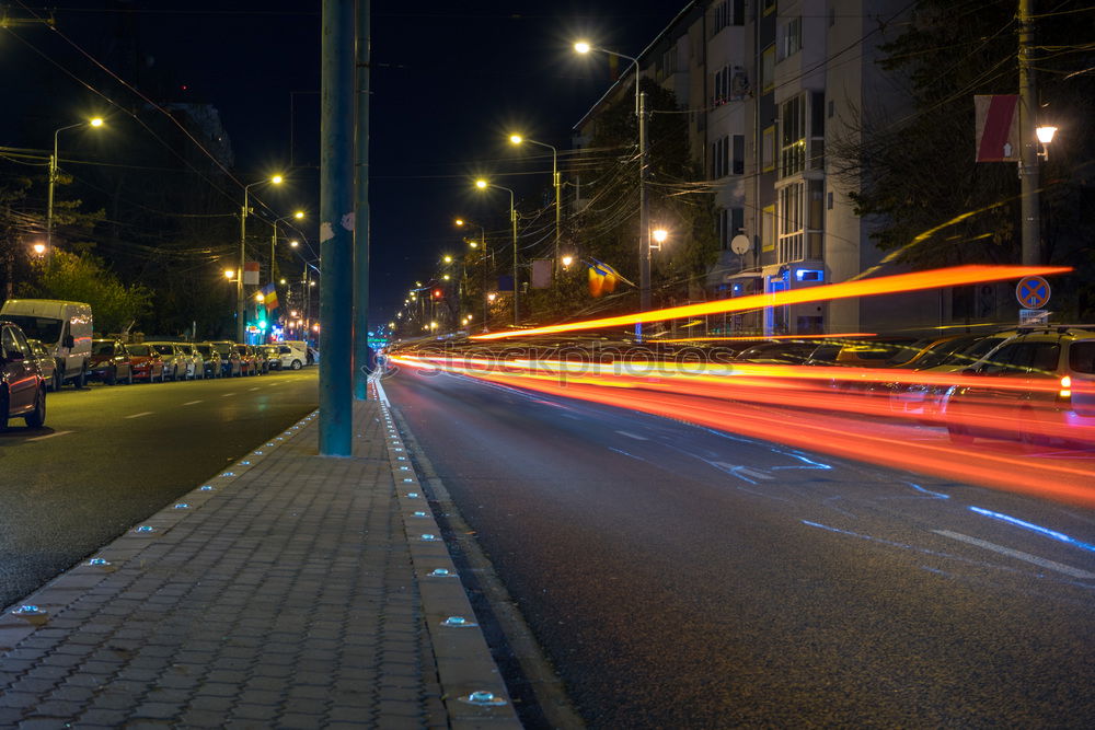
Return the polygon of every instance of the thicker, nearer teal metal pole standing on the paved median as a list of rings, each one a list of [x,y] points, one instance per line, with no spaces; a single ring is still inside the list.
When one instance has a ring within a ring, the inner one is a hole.
[[[353,451],[354,0],[322,0],[320,455]]]

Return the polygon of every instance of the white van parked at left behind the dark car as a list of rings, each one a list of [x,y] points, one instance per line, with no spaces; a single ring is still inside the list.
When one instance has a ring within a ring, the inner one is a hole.
[[[83,387],[91,358],[91,305],[56,299],[9,299],[0,318],[14,322],[23,333],[37,339],[57,361],[54,386],[72,381]]]

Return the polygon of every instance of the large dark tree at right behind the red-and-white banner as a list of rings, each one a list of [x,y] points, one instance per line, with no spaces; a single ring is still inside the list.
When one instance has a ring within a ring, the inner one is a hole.
[[[856,213],[877,223],[878,247],[896,260],[932,268],[1019,259],[1016,165],[976,162],[973,112],[975,94],[1016,93],[1015,31],[1014,0],[919,0],[904,30],[879,47],[910,109],[897,118],[880,106],[858,111],[830,160]],[[1047,10],[1035,31],[1039,114],[1062,127],[1042,165],[1046,260],[1092,267],[1095,221],[1085,211],[1095,202],[1095,139],[1082,121],[1095,111],[1092,22]]]

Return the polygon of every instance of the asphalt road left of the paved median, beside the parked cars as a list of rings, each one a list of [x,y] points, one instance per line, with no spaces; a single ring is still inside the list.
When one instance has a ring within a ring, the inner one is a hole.
[[[46,398],[0,433],[0,607],[315,409],[316,371],[139,383]]]

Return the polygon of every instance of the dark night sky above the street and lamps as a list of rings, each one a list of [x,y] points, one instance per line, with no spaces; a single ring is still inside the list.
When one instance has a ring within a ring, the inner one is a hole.
[[[475,175],[489,173],[519,196],[538,199],[550,185],[548,150],[516,150],[506,136],[521,130],[561,151],[569,146],[574,124],[611,84],[604,57],[576,56],[574,39],[635,56],[684,4],[373,1],[372,321],[390,318],[414,280],[428,277],[443,252],[458,250],[453,217],[506,225],[508,198],[474,190]],[[32,4],[12,7],[16,18],[32,13],[48,14]],[[290,185],[260,195],[278,216],[308,209],[306,232],[315,245],[318,2],[70,2],[57,7],[55,18],[74,46],[157,101],[215,105],[231,140],[238,179],[289,170]],[[58,34],[44,26],[14,33],[22,40],[0,32],[0,73],[7,68],[5,95],[14,102],[0,119],[0,144],[45,149],[53,129],[100,111],[67,106],[69,99],[82,99],[84,106],[94,99],[81,84],[123,104],[134,102]],[[141,62],[153,65],[160,78],[166,72],[173,83],[142,84]],[[35,69],[46,65],[64,67],[69,85],[34,83]],[[127,78],[132,76],[138,78]],[[81,93],[70,94],[71,89]],[[93,104],[110,107],[101,100]],[[104,155],[110,143],[102,142]]]

